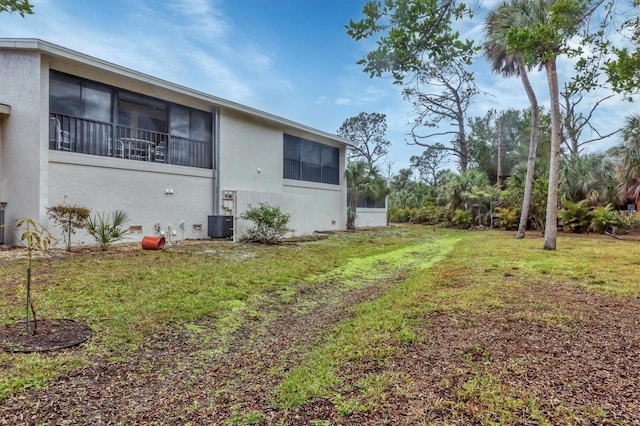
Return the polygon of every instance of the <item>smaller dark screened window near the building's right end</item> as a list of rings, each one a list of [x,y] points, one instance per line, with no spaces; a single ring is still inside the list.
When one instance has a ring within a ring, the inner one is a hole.
[[[286,179],[340,183],[338,148],[285,134],[283,157]]]

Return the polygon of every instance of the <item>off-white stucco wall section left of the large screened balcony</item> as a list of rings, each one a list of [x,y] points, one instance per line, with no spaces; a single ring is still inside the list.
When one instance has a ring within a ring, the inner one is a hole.
[[[0,190],[7,202],[7,226],[20,217],[39,221],[46,218],[47,140],[44,138],[42,66],[40,54],[0,51],[0,102],[11,106],[11,115],[3,119]],[[45,104],[44,107],[47,105]],[[5,233],[5,243],[15,244],[12,232]]]

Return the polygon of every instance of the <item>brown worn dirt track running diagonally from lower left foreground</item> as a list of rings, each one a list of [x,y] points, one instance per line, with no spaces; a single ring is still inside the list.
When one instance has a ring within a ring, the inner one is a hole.
[[[345,290],[333,283],[299,288],[295,300],[277,297],[256,307],[221,345],[188,330],[147,339],[124,363],[106,361],[61,377],[44,390],[3,402],[0,424],[223,424],[259,411],[268,424],[286,413],[269,405],[282,375],[325,334],[402,274]],[[261,319],[264,317],[264,319]],[[199,327],[212,327],[201,323]]]

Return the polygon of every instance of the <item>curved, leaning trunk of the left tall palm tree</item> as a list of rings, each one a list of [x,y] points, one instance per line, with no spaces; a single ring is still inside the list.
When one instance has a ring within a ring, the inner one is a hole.
[[[533,91],[529,75],[524,65],[522,55],[517,55],[518,68],[520,69],[520,79],[524,86],[529,103],[531,104],[531,138],[529,139],[529,157],[527,159],[527,178],[524,182],[524,196],[522,197],[522,209],[520,213],[520,224],[518,225],[517,238],[524,238],[527,230],[527,221],[529,220],[529,209],[531,206],[531,194],[533,193],[533,177],[536,169],[536,156],[538,153],[538,135],[540,128],[540,110],[538,108],[538,99]]]

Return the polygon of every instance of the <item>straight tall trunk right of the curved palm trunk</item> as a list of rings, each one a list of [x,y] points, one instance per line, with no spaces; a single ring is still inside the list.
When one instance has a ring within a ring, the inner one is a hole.
[[[558,182],[560,177],[560,143],[562,123],[558,97],[558,72],[555,58],[544,64],[551,98],[551,160],[549,162],[549,194],[547,196],[547,220],[544,228],[545,250],[556,249],[558,237]]]

